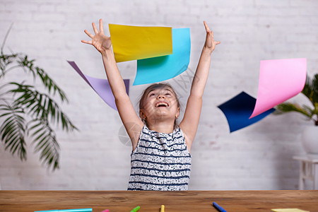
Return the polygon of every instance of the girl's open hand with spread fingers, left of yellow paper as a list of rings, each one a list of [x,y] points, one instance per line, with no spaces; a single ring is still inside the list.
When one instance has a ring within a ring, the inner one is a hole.
[[[88,30],[84,30],[86,35],[88,35],[92,40],[82,40],[83,43],[93,45],[96,49],[98,49],[98,52],[104,53],[107,50],[110,49],[112,46],[112,41],[110,40],[110,37],[107,37],[104,34],[104,28],[102,27],[102,19],[100,19],[100,32],[98,33],[98,29],[96,28],[95,23],[92,23],[93,25],[93,30],[95,35],[92,35],[88,33]]]

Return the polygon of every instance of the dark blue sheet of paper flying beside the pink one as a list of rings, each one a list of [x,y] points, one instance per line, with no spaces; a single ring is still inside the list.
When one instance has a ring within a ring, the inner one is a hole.
[[[218,105],[218,108],[222,110],[228,120],[230,132],[237,131],[238,129],[259,122],[259,120],[275,111],[275,109],[271,108],[270,110],[259,114],[257,117],[249,119],[253,112],[255,102],[255,98],[243,91],[234,98],[224,102],[222,105]]]

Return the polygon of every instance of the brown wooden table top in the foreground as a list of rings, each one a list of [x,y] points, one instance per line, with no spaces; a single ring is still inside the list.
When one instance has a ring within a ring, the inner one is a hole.
[[[93,212],[217,211],[216,201],[230,212],[267,211],[271,208],[300,208],[318,212],[318,191],[0,191],[0,211],[42,211],[68,208],[93,208]]]

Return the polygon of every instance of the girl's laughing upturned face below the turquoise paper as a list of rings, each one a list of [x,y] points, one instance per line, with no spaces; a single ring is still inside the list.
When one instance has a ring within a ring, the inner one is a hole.
[[[173,119],[179,117],[177,97],[171,88],[154,88],[146,93],[141,119]]]

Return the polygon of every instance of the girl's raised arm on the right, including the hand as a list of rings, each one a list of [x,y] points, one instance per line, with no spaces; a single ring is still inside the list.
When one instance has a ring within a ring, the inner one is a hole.
[[[196,68],[196,73],[192,81],[192,87],[187,101],[187,107],[184,112],[184,117],[182,122],[179,124],[179,127],[184,132],[189,151],[191,149],[192,142],[194,141],[194,137],[196,136],[196,130],[198,129],[202,107],[202,95],[204,94],[204,88],[206,87],[206,81],[208,80],[211,54],[216,45],[220,43],[214,40],[213,32],[208,28],[205,21],[204,26],[206,28],[206,42],[204,43],[199,64]]]

